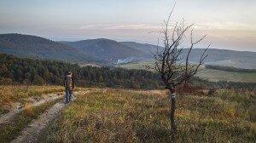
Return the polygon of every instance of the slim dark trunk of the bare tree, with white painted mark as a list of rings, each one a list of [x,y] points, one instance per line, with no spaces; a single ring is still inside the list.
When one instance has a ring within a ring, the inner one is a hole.
[[[171,129],[172,132],[176,132],[177,131],[177,127],[174,121],[174,113],[175,113],[175,98],[176,98],[176,94],[175,94],[175,89],[171,89]]]

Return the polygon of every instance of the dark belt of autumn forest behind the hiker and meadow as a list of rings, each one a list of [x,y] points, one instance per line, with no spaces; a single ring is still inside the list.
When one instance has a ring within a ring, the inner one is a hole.
[[[0,54],[0,84],[62,85],[67,72],[73,72],[76,86],[121,89],[164,89],[159,73],[114,67],[80,67],[53,60],[18,58]],[[210,82],[193,77],[196,88],[255,89],[256,83]]]

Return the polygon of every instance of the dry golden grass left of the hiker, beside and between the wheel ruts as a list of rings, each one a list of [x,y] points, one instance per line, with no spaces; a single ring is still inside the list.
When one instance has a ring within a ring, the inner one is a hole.
[[[0,115],[9,112],[8,106],[14,103],[22,103],[25,110],[11,117],[9,122],[0,124],[0,142],[9,142],[14,140],[20,131],[32,122],[33,119],[53,106],[58,100],[46,102],[42,106],[31,106],[25,99],[40,96],[42,94],[51,94],[63,92],[61,86],[26,86],[26,85],[1,85],[0,86]],[[64,97],[64,96],[63,96]],[[63,99],[61,99],[63,100]]]

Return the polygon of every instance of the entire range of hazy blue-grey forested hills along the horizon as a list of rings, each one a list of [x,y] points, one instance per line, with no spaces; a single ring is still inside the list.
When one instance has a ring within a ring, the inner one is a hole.
[[[102,66],[152,60],[156,49],[156,45],[148,43],[117,42],[106,38],[54,42],[31,35],[0,34],[1,53],[72,63],[96,63]],[[189,60],[198,62],[203,50],[193,49]],[[183,49],[183,55],[187,52],[188,49]],[[205,63],[208,65],[256,69],[256,52],[208,49],[207,54]]]

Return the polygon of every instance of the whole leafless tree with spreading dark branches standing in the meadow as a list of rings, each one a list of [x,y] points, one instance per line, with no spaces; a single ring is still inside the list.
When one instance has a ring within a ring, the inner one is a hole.
[[[174,7],[173,7],[174,8]],[[173,11],[173,9],[172,9]],[[188,83],[189,79],[195,75],[198,68],[203,64],[203,61],[207,58],[206,52],[210,47],[201,54],[201,58],[198,64],[189,63],[189,55],[191,50],[195,47],[197,43],[200,43],[205,37],[201,37],[199,40],[194,41],[193,39],[193,25],[186,26],[184,20],[181,22],[176,22],[175,26],[170,26],[171,14],[167,20],[164,21],[164,26],[160,33],[162,34],[162,40],[164,47],[158,47],[156,53],[154,54],[154,67],[156,72],[160,73],[162,81],[165,83],[166,88],[171,91],[171,129],[172,131],[177,131],[177,126],[174,120],[175,113],[175,89],[177,85]],[[171,32],[170,32],[171,29]],[[186,38],[186,33],[189,32],[190,35],[190,47],[187,54],[183,55],[183,42]],[[185,58],[185,59],[184,59]],[[184,59],[184,60],[183,60]],[[149,67],[148,68],[152,68]]]

